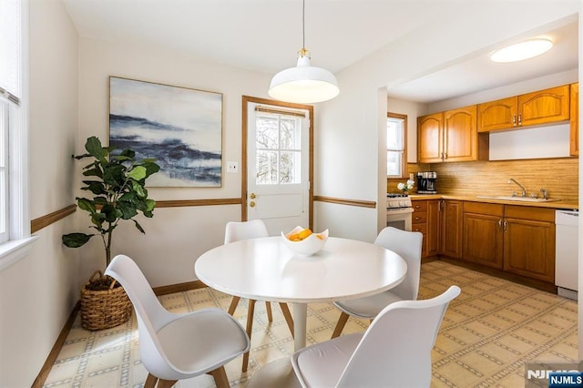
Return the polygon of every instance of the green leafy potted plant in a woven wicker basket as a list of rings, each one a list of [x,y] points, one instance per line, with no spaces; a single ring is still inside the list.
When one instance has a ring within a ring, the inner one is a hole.
[[[151,218],[156,205],[148,199],[146,179],[159,171],[155,159],[137,160],[136,152],[125,148],[112,152],[115,147],[103,147],[96,137],[87,138],[87,153],[76,159],[90,159],[83,168],[82,190],[90,195],[77,197],[77,206],[88,213],[91,233],[75,232],[62,236],[63,244],[79,248],[99,236],[105,249],[105,268],[111,261],[113,232],[121,220],[131,220],[145,233],[134,219],[138,213]],[[88,330],[101,330],[127,322],[132,305],[123,288],[112,278],[95,271],[81,289],[81,323]]]

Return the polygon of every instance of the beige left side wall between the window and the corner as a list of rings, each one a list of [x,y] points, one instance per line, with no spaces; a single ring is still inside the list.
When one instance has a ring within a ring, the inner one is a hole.
[[[77,32],[60,2],[30,2],[30,216],[73,203]],[[78,301],[78,262],[60,236],[72,218],[36,233],[22,260],[0,271],[0,386],[30,386]]]

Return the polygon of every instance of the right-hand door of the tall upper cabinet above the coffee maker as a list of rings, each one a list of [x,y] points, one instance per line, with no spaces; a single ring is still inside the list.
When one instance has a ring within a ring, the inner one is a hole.
[[[460,107],[444,115],[444,160],[449,162],[477,159],[477,107]]]

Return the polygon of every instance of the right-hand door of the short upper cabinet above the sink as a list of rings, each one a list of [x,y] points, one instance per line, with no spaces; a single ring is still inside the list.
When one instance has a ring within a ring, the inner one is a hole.
[[[518,125],[531,126],[569,119],[569,86],[551,87],[518,96]]]

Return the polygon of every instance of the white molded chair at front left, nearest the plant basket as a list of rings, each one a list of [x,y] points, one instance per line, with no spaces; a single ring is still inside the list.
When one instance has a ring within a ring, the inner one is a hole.
[[[167,311],[138,265],[118,255],[105,272],[120,283],[134,305],[139,353],[148,371],[145,387],[169,387],[179,380],[209,373],[218,387],[229,387],[224,364],[250,348],[239,322],[227,312],[208,308],[187,313]]]

